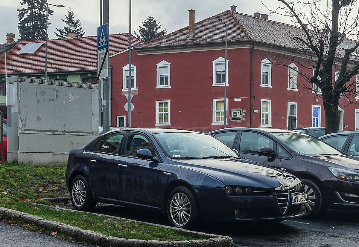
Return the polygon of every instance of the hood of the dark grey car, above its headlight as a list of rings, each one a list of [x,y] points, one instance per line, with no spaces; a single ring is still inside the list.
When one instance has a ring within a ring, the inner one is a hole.
[[[320,163],[325,166],[332,166],[347,170],[359,169],[359,157],[346,156],[346,155],[318,155],[308,156],[302,155],[304,160]]]

